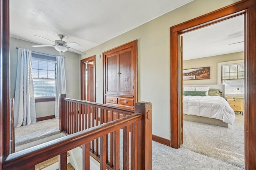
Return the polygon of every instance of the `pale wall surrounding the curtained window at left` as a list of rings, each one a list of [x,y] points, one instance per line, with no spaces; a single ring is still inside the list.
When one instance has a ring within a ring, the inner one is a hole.
[[[14,98],[16,75],[17,75],[17,62],[18,62],[18,49],[25,48],[35,52],[46,53],[49,55],[59,55],[52,47],[31,47],[31,45],[38,45],[21,39],[10,37],[10,84],[11,84],[11,98]],[[67,96],[69,98],[79,99],[78,82],[80,79],[79,68],[80,64],[79,55],[76,53],[65,52],[65,73],[66,73],[66,87]],[[45,117],[55,114],[55,102],[39,102],[36,103],[36,117]]]

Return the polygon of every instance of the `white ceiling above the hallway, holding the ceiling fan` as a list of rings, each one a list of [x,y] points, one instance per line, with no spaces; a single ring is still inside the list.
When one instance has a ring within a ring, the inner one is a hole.
[[[10,0],[10,36],[49,45],[34,35],[54,41],[62,33],[86,51],[190,1]]]

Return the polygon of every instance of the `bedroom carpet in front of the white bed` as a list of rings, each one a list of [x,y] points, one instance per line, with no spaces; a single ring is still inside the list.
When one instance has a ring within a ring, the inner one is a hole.
[[[244,116],[229,128],[183,121],[183,145],[199,154],[244,168]]]

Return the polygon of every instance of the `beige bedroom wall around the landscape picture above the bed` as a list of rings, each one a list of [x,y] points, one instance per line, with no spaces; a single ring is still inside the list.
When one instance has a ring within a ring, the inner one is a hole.
[[[243,60],[244,52],[231,53],[225,55],[217,55],[212,57],[204,57],[194,60],[183,61],[183,69],[200,68],[210,66],[210,79],[206,80],[183,80],[184,85],[192,84],[218,84],[218,63],[226,61]]]

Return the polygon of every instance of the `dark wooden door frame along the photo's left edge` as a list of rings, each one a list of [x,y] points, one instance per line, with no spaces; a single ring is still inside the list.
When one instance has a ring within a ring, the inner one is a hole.
[[[9,0],[0,0],[0,169],[10,154],[10,24]]]

